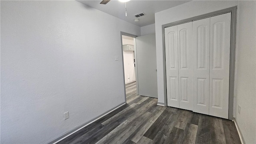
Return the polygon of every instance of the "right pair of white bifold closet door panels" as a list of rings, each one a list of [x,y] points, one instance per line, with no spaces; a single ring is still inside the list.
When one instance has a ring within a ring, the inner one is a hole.
[[[193,111],[228,118],[231,13],[193,22]]]

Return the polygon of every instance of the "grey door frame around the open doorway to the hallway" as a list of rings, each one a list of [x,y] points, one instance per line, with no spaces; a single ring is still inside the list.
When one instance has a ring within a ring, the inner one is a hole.
[[[126,32],[120,32],[120,38],[121,38],[121,50],[122,50],[122,67],[123,67],[123,79],[124,79],[124,99],[125,99],[125,103],[126,103],[126,87],[125,87],[125,78],[124,78],[124,53],[123,53],[123,40],[122,40],[122,35],[125,35],[125,36],[130,36],[130,37],[133,37],[133,42],[134,42],[134,59],[135,59],[135,79],[136,79],[136,82],[138,81],[138,73],[137,73],[137,54],[136,54],[136,35],[134,34],[129,34],[129,33],[126,33]],[[138,84],[136,85],[137,86],[137,94],[138,94]]]

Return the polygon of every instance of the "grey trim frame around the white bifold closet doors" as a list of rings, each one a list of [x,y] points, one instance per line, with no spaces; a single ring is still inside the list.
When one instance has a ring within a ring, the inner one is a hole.
[[[212,16],[217,16],[220,14],[225,14],[231,12],[231,34],[230,34],[230,75],[229,75],[229,109],[228,109],[228,119],[233,119],[233,105],[234,105],[234,73],[235,73],[235,44],[236,44],[236,10],[237,6],[226,8],[223,10],[218,10],[216,12],[210,12],[208,14],[202,14],[200,16],[195,16],[192,18],[187,18],[185,20],[179,20],[169,24],[162,25],[162,44],[163,44],[163,60],[164,60],[164,106],[167,106],[167,88],[166,88],[166,58],[165,58],[165,37],[164,28],[175,26],[178,24],[183,24],[186,22],[192,22],[194,20],[200,20],[203,18],[208,18]]]

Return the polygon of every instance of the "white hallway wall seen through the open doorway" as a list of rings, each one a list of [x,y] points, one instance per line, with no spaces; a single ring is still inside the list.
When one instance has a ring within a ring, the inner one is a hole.
[[[134,45],[133,40],[122,39],[123,45]],[[124,56],[124,81],[125,83],[136,80],[134,68],[134,51],[123,51]]]

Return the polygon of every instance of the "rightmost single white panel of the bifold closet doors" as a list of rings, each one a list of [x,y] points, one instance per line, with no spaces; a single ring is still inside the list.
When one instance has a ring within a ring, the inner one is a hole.
[[[228,118],[231,13],[210,18],[211,116]]]

